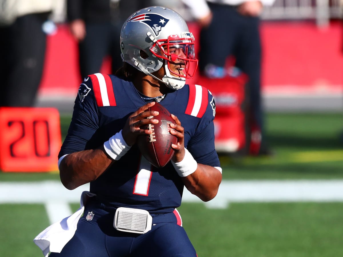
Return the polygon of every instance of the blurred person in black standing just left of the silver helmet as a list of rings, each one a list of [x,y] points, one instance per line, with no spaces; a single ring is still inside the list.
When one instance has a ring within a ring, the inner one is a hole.
[[[81,79],[100,71],[110,56],[112,74],[122,66],[121,26],[134,11],[150,6],[149,0],[67,0],[70,31],[79,44]]]

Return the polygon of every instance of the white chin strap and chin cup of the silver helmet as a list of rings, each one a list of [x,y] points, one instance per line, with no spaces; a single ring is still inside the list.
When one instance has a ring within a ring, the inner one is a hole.
[[[131,60],[133,65],[135,65],[140,71],[142,71],[144,74],[149,75],[155,79],[157,79],[158,81],[161,81],[162,83],[164,83],[168,88],[177,90],[180,89],[182,87],[184,87],[184,85],[186,84],[186,79],[182,78],[182,77],[174,77],[170,74],[169,69],[168,69],[168,63],[167,61],[165,61],[165,71],[166,74],[162,77],[162,79],[159,79],[158,77],[156,77],[155,75],[151,74],[149,71],[147,71],[144,66],[142,64],[140,64],[138,61],[132,59]]]

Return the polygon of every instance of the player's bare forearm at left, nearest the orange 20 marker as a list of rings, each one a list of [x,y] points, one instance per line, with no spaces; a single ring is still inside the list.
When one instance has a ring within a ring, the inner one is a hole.
[[[74,152],[60,163],[60,179],[69,190],[96,180],[114,162],[103,149]]]

